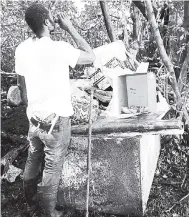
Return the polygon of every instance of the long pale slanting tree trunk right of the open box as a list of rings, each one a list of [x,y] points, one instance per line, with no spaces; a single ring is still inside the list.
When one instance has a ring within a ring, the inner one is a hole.
[[[169,78],[170,84],[171,84],[171,86],[172,86],[172,88],[176,94],[177,107],[180,110],[182,108],[182,106],[181,106],[182,105],[182,98],[181,98],[181,94],[180,94],[178,84],[176,81],[174,67],[173,67],[173,64],[172,64],[170,58],[168,57],[166,50],[165,50],[165,47],[163,45],[163,40],[161,38],[159,29],[158,29],[158,25],[157,25],[157,22],[156,22],[156,19],[154,16],[151,0],[146,0],[145,3],[146,3],[146,7],[147,7],[147,12],[148,12],[148,20],[151,24],[152,32],[153,32],[153,35],[155,37],[161,59],[165,65],[165,67],[167,68],[168,78]],[[189,117],[188,117],[188,113],[187,113],[185,108],[183,108],[183,112],[185,115],[185,121],[187,121],[187,123],[188,123]]]

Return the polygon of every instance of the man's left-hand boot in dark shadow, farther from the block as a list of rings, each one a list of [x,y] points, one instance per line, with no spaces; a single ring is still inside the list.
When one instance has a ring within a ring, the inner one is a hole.
[[[31,216],[38,211],[37,178],[24,181],[24,195],[27,203],[27,212]]]

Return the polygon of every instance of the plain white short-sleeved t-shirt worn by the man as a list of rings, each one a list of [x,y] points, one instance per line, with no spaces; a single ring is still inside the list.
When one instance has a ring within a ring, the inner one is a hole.
[[[15,52],[16,73],[25,77],[27,115],[56,113],[73,114],[69,81],[69,66],[75,67],[80,50],[64,41],[49,37],[29,38]]]

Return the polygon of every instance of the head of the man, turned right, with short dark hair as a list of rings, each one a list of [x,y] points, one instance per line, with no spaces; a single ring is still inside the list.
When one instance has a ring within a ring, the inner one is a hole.
[[[55,23],[53,17],[42,4],[32,4],[26,10],[25,20],[36,35],[39,35],[46,30],[50,33],[54,31]]]

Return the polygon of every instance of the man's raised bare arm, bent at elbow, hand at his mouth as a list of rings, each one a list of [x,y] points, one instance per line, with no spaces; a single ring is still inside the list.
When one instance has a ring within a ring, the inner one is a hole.
[[[67,17],[59,15],[58,23],[62,29],[67,31],[72,36],[78,48],[81,50],[77,64],[83,65],[93,63],[95,61],[95,55],[92,48],[85,41],[85,39],[80,36],[75,27],[72,25],[71,21]]]

